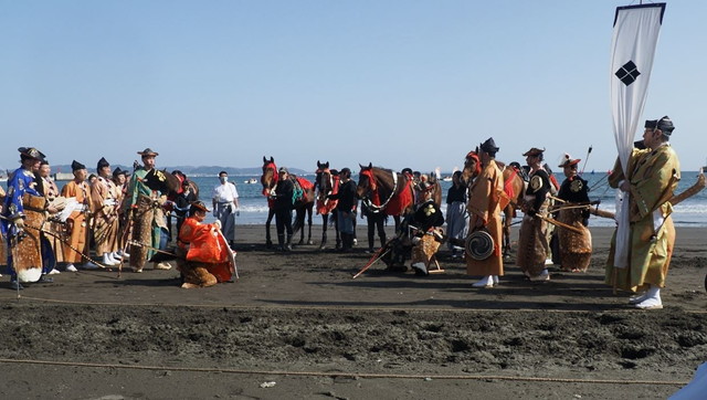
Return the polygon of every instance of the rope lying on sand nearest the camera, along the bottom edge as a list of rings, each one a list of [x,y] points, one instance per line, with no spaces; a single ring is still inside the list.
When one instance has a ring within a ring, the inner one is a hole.
[[[222,372],[238,375],[281,375],[296,377],[331,377],[331,378],[369,378],[369,379],[447,379],[447,380],[513,380],[529,382],[563,382],[563,383],[599,383],[599,385],[667,385],[685,386],[688,381],[679,380],[623,380],[623,379],[576,379],[576,378],[549,378],[549,377],[514,377],[502,375],[416,375],[416,373],[369,373],[369,372],[325,372],[325,371],[282,371],[282,370],[249,370],[233,368],[194,368],[173,366],[126,366],[123,364],[74,362],[74,361],[45,361],[34,359],[0,358],[6,364],[34,364],[45,366],[88,367],[88,368],[116,368],[179,372]]]

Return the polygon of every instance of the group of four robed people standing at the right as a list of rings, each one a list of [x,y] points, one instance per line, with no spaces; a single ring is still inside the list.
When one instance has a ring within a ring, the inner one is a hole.
[[[677,155],[669,145],[673,130],[668,117],[646,120],[643,140],[634,144],[627,168],[624,170],[618,160],[609,178],[610,186],[623,194],[627,223],[618,219],[605,283],[635,294],[629,303],[641,309],[663,307],[659,292],[665,286],[675,243],[669,200],[680,172]],[[474,249],[467,252],[466,263],[469,275],[482,276],[473,284],[475,287],[493,287],[504,275],[500,211],[514,201],[514,193],[508,193],[504,173],[495,160],[498,150],[489,138],[467,156],[467,165],[474,168],[467,192],[467,244]],[[544,151],[536,147],[526,151],[526,167],[515,171],[526,181],[516,204],[524,212],[516,265],[531,281],[550,280],[547,264],[559,265],[567,272],[585,272],[592,253],[591,233],[587,229],[592,202],[587,181],[578,173],[580,159],[564,156],[558,167],[566,179],[558,185],[544,164]],[[458,197],[453,200],[458,201]],[[622,229],[626,232],[623,243]],[[451,236],[458,238],[456,232],[450,232]],[[479,251],[485,243],[488,251]]]

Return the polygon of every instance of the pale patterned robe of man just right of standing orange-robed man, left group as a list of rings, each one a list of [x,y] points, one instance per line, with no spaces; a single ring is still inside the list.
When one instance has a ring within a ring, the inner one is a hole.
[[[91,186],[93,236],[97,255],[118,251],[118,188],[110,179],[98,177]]]

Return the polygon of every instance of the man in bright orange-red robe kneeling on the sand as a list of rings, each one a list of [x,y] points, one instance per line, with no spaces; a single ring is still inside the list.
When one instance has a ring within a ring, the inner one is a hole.
[[[194,201],[189,217],[179,231],[178,261],[184,283],[181,287],[208,287],[218,282],[229,282],[232,276],[231,249],[221,234],[221,222],[203,223],[209,209],[202,201]]]

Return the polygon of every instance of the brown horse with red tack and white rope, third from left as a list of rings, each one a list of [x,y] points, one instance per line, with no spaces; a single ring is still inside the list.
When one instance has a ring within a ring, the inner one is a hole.
[[[412,177],[373,167],[370,162],[368,167],[361,165],[359,167],[361,170],[358,175],[356,196],[363,199],[369,209],[392,215],[397,232],[400,228],[400,215],[412,212],[414,199]]]

